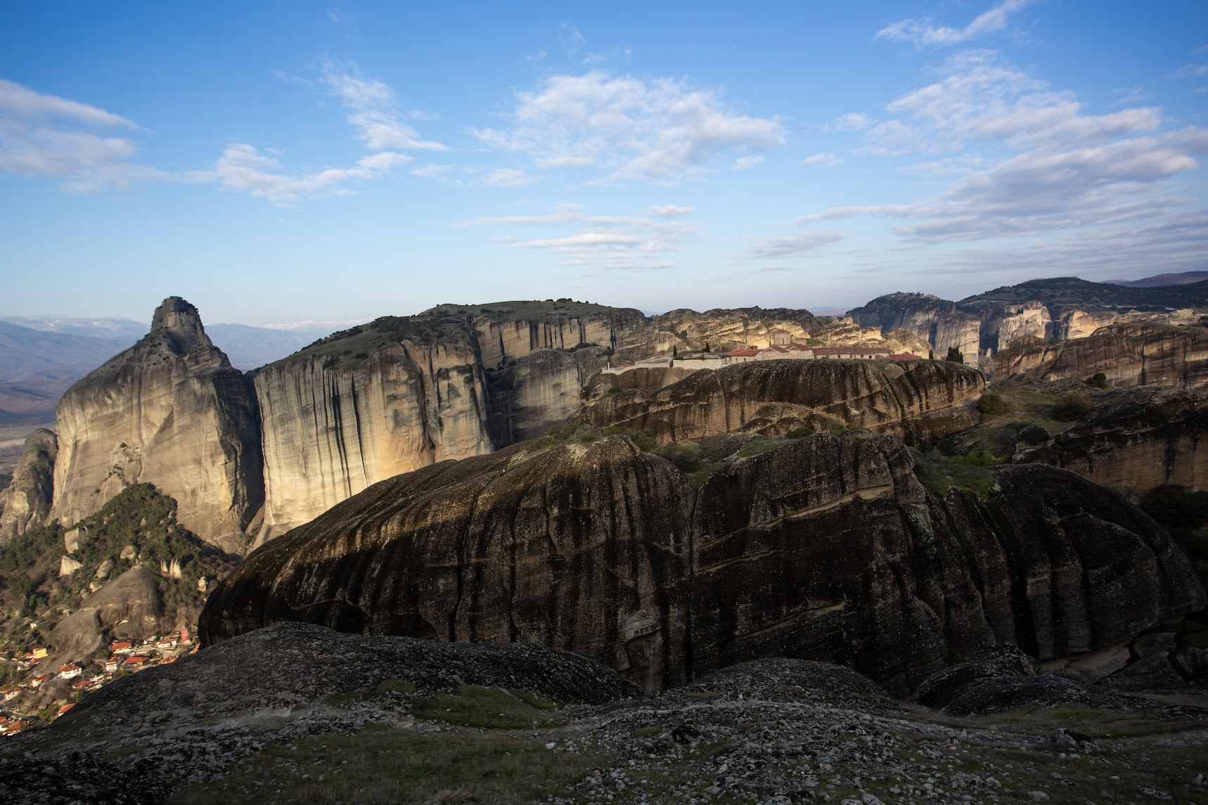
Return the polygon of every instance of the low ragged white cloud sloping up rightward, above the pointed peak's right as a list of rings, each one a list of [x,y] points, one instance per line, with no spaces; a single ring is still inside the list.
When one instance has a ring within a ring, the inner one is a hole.
[[[250,192],[278,204],[330,192],[345,195],[339,185],[349,179],[372,179],[410,161],[405,154],[382,151],[362,157],[352,168],[327,168],[302,175],[281,172],[280,162],[251,145],[233,143],[226,147],[214,168],[214,178],[228,190]]]

